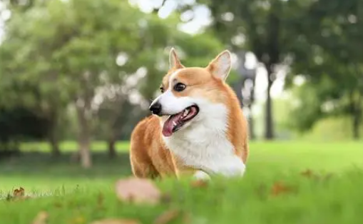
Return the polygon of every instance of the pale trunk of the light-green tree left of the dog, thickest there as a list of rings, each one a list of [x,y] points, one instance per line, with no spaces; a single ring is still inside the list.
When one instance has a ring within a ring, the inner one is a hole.
[[[81,166],[83,168],[91,168],[92,166],[91,151],[90,151],[91,139],[90,139],[89,121],[86,116],[85,108],[77,106],[77,115],[78,115],[78,125],[79,125],[78,147],[79,147],[79,156],[81,157]]]

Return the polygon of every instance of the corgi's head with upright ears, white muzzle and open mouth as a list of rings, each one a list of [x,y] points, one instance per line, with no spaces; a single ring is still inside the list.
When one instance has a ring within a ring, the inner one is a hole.
[[[223,51],[207,67],[186,68],[171,49],[170,69],[160,86],[161,95],[150,105],[150,111],[161,117],[163,136],[213,116],[216,107],[225,103],[225,79],[230,73],[230,52]]]

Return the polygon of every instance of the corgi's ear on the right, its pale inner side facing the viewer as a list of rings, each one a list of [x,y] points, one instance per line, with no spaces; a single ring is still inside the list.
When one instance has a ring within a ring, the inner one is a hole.
[[[212,61],[210,61],[207,68],[213,74],[213,76],[225,81],[228,74],[230,73],[230,58],[230,51],[225,50],[222,53],[218,54],[218,56],[215,57]]]

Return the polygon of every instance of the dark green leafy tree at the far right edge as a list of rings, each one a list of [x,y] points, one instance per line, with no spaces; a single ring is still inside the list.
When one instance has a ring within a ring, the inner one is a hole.
[[[362,46],[363,4],[360,1],[314,1],[290,31],[298,38],[292,47],[292,72],[305,76],[300,93],[314,93],[315,99],[305,101],[299,120],[309,118],[305,128],[328,115],[352,118],[352,133],[359,138],[363,113]],[[320,31],[320,32],[317,32]],[[291,81],[291,80],[290,80]],[[328,105],[328,106],[327,106]],[[328,108],[327,108],[328,107]],[[298,108],[297,108],[298,109]],[[309,116],[302,113],[310,111]],[[301,120],[298,123],[303,123]]]

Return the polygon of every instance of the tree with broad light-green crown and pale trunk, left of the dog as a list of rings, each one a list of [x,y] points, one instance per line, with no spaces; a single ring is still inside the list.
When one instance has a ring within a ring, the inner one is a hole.
[[[112,81],[123,76],[116,64],[121,51],[140,50],[140,29],[133,23],[140,19],[147,18],[116,0],[46,1],[13,14],[6,24],[2,55],[15,60],[2,61],[2,75],[13,83],[39,85],[46,108],[75,105],[85,168],[91,166],[95,89],[101,76]]]

